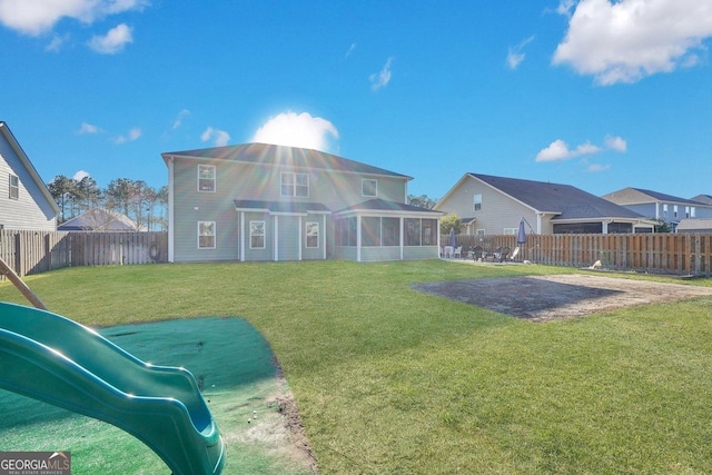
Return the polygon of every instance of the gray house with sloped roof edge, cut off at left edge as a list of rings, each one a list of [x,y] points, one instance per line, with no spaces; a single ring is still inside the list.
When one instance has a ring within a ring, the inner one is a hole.
[[[59,207],[20,144],[0,121],[0,229],[57,229]]]

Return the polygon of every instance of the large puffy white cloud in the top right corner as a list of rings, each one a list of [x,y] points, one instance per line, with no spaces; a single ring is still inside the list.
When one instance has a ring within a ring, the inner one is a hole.
[[[602,86],[693,66],[712,37],[709,0],[581,0],[572,8],[563,0],[557,9],[570,23],[553,63],[571,65]]]

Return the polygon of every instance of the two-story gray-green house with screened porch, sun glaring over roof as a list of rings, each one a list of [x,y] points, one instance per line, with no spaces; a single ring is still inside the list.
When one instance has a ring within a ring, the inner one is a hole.
[[[168,260],[437,258],[441,212],[406,204],[408,176],[265,144],[161,154]]]

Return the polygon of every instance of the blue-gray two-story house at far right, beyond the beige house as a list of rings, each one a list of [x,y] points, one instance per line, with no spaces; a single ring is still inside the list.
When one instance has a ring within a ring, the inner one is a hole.
[[[662,219],[673,231],[682,219],[712,218],[712,205],[642,188],[623,188],[602,197],[652,219]]]

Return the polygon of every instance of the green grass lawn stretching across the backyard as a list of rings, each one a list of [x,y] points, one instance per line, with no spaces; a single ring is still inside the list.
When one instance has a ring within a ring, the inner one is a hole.
[[[531,324],[411,289],[572,271],[319,261],[26,281],[89,325],[247,318],[283,366],[320,474],[712,473],[712,298]],[[27,304],[8,283],[0,300]]]

